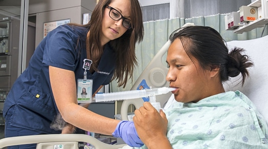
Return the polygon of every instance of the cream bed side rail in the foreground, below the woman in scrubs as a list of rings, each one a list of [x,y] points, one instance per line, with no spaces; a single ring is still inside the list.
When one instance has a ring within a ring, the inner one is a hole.
[[[83,134],[52,134],[52,135],[32,135],[4,138],[0,140],[0,148],[11,145],[37,143],[37,149],[76,149],[78,142],[92,144],[96,149],[122,148],[126,144],[111,145],[99,141],[98,139]]]

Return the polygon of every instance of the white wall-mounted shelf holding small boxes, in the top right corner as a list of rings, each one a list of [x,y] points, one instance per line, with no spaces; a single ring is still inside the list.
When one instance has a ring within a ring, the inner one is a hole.
[[[233,31],[234,33],[241,34],[243,32],[249,32],[255,28],[261,28],[268,24],[268,0],[257,0],[248,6],[258,8],[258,19],[237,28]]]

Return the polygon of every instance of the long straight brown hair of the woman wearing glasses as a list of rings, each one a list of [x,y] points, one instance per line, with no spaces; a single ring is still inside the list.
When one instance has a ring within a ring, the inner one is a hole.
[[[100,57],[96,53],[102,54],[101,46],[102,19],[104,15],[105,5],[109,5],[111,1],[120,0],[100,0],[92,12],[91,20],[86,25],[77,25],[89,28],[90,32],[90,55],[93,61],[98,61]],[[115,74],[112,80],[117,79],[118,86],[125,88],[128,78],[133,79],[133,69],[137,65],[137,57],[135,54],[136,42],[143,40],[144,28],[142,20],[142,10],[138,0],[130,1],[130,20],[131,28],[128,29],[121,37],[111,40],[110,45],[116,52]],[[93,63],[92,67],[97,71],[98,64]]]

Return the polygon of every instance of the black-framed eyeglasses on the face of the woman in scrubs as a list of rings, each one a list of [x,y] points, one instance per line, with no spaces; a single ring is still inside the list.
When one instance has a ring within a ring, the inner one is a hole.
[[[123,27],[125,27],[126,29],[131,28],[131,20],[130,19],[124,17],[118,10],[116,10],[113,7],[110,7],[108,5],[105,5],[105,7],[110,9],[109,16],[111,19],[120,20],[122,18],[123,19]]]

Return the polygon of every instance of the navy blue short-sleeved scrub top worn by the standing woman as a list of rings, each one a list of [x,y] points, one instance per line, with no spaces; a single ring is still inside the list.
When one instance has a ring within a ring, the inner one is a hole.
[[[86,59],[84,27],[62,25],[48,33],[30,59],[28,68],[13,84],[4,103],[4,117],[11,115],[10,124],[45,134],[58,134],[50,124],[58,113],[52,94],[49,66],[74,71],[75,79],[82,79],[83,60]],[[115,51],[105,45],[98,72],[87,70],[87,79],[93,79],[93,91],[110,82],[115,69]],[[94,63],[94,61],[93,61]],[[64,76],[62,76],[64,77]],[[58,82],[60,83],[60,82]]]

